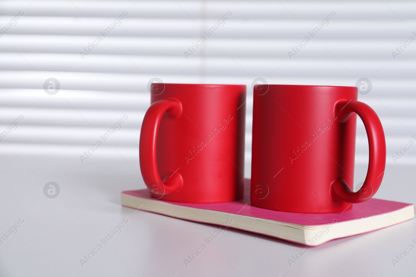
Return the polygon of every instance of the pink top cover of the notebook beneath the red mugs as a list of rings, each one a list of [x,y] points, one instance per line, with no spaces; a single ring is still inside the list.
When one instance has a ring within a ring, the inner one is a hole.
[[[245,179],[245,196],[243,197],[243,199],[224,203],[179,203],[163,201],[152,198],[148,189],[123,191],[122,193],[130,196],[150,199],[152,201],[162,201],[165,203],[170,203],[172,205],[219,211],[230,214],[238,214],[253,218],[263,218],[272,221],[280,221],[284,223],[292,223],[302,226],[327,225],[333,222],[334,218],[337,223],[342,223],[345,221],[352,221],[362,218],[368,218],[371,216],[377,216],[385,213],[391,213],[393,211],[397,211],[407,206],[413,206],[413,204],[409,203],[401,203],[396,201],[371,198],[363,203],[353,204],[353,207],[350,210],[344,211],[342,213],[289,213],[282,211],[272,211],[263,208],[258,208],[250,204],[250,179]],[[145,210],[145,208],[143,208],[143,210]]]

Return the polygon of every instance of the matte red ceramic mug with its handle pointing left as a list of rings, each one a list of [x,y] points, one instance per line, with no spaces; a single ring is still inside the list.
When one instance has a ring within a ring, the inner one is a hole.
[[[140,169],[157,199],[243,197],[245,85],[154,83],[140,133]]]

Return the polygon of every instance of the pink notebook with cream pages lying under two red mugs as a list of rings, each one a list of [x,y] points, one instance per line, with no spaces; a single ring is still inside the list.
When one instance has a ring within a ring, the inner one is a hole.
[[[190,221],[237,228],[305,245],[319,245],[335,238],[370,232],[414,218],[413,204],[369,199],[342,213],[287,213],[250,204],[250,179],[245,197],[225,203],[178,203],[154,199],[148,189],[123,191],[126,207]],[[221,229],[219,229],[221,233]]]

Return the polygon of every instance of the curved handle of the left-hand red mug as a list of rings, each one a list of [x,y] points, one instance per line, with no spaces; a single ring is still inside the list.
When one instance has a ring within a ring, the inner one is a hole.
[[[181,115],[182,104],[176,99],[158,100],[150,105],[141,124],[139,141],[140,171],[144,184],[153,195],[163,196],[178,190],[183,185],[179,172],[168,172],[163,181],[160,178],[156,160],[156,144],[159,125],[163,115],[177,118]]]

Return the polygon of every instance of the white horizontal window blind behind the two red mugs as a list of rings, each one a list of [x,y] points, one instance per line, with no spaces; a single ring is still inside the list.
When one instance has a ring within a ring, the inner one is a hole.
[[[378,113],[387,162],[394,163],[396,151],[416,142],[416,42],[409,42],[416,39],[415,9],[407,1],[2,1],[0,132],[7,135],[0,136],[0,152],[77,157],[127,115],[91,157],[111,158],[118,150],[138,163],[151,78],[241,83],[248,87],[250,176],[255,78],[335,86],[368,78],[372,90],[359,100]],[[208,37],[204,32],[227,12]],[[312,37],[308,32],[320,23]],[[202,46],[185,55],[202,36]],[[296,49],[307,36],[310,41]],[[49,78],[59,82],[54,95],[44,90]],[[19,115],[24,119],[10,126]],[[356,162],[366,164],[366,134],[360,120],[357,126]],[[416,164],[413,148],[395,162]]]

